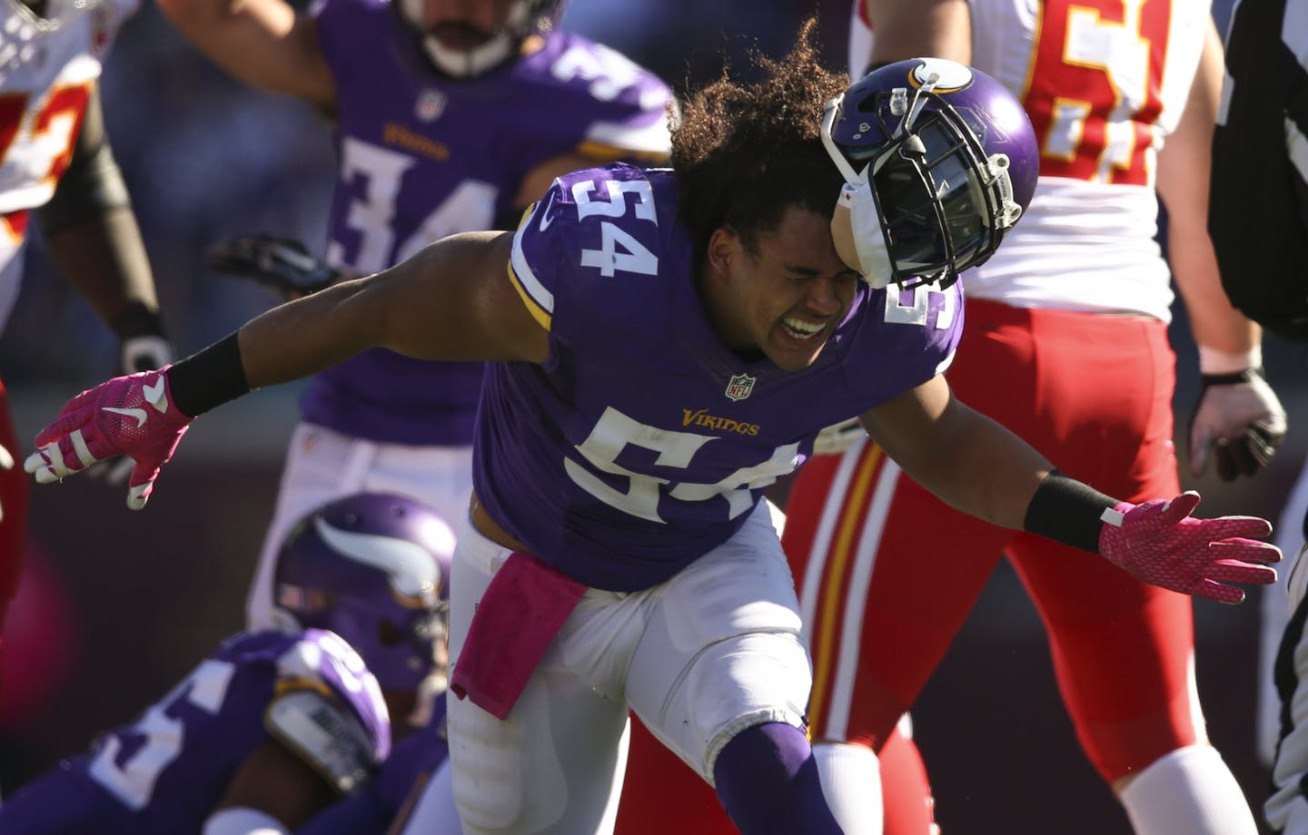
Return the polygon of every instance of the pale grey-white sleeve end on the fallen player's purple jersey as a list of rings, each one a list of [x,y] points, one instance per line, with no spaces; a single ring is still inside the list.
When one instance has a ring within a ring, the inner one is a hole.
[[[292,690],[276,696],[264,727],[341,794],[368,780],[377,767],[375,741],[364,724],[332,696]]]

